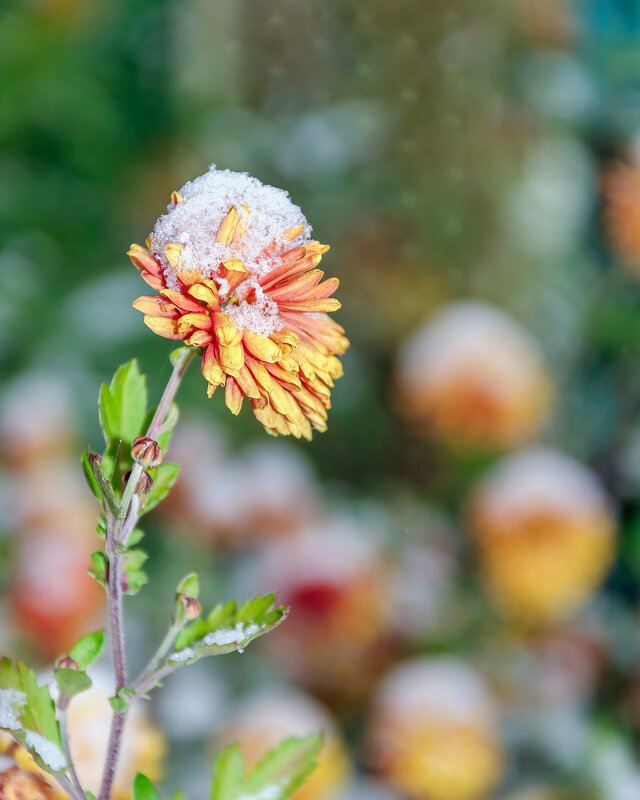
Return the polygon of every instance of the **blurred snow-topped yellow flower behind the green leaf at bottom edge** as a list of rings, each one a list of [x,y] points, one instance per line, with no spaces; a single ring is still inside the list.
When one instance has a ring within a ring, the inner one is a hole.
[[[304,694],[274,689],[250,697],[224,726],[222,743],[236,742],[251,768],[283,739],[323,732],[318,767],[291,800],[330,800],[345,785],[350,762],[326,711]]]

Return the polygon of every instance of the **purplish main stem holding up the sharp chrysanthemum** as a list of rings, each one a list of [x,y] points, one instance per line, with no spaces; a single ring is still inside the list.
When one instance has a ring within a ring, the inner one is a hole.
[[[175,359],[173,372],[167,382],[160,398],[153,420],[147,429],[146,436],[155,439],[160,433],[167,412],[178,391],[184,373],[193,359],[197,350],[190,348],[184,350]],[[116,679],[116,693],[127,685],[126,648],[124,639],[124,624],[122,616],[122,555],[121,547],[126,544],[131,532],[140,517],[140,501],[135,494],[138,479],[142,474],[142,467],[134,464],[127,485],[120,501],[120,519],[110,519],[107,524],[106,553],[109,564],[107,581],[107,602],[109,606],[109,632],[111,638],[111,652]],[[127,720],[127,711],[114,711],[111,721],[111,733],[105,760],[102,786],[98,800],[110,800],[115,778],[118,756],[122,744],[122,734]]]

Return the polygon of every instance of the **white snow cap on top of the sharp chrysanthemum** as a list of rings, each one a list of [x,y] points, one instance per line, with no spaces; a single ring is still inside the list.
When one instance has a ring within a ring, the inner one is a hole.
[[[178,269],[213,277],[221,262],[229,258],[239,258],[256,275],[264,274],[271,262],[260,257],[262,251],[273,242],[285,244],[282,235],[289,228],[303,226],[291,247],[310,239],[311,227],[289,194],[265,186],[246,172],[217,170],[211,165],[204,175],[185,183],[179,193],[183,202],[176,206],[170,203],[151,233],[150,250],[164,267],[168,282],[175,284],[164,249],[171,242],[184,245]],[[227,246],[216,242],[216,235],[232,206],[240,215],[239,227],[246,227],[246,233],[239,242]]]

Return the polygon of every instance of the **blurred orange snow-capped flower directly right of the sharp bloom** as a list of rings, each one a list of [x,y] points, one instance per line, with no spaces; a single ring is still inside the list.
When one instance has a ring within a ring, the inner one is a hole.
[[[403,345],[396,366],[400,411],[452,443],[509,448],[534,436],[551,387],[535,341],[479,302],[447,306]]]

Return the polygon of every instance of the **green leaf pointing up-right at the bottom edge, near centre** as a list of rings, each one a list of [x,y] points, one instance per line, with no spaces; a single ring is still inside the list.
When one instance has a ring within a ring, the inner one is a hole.
[[[291,737],[267,753],[242,787],[246,800],[269,797],[285,800],[296,792],[318,764],[322,734]]]

